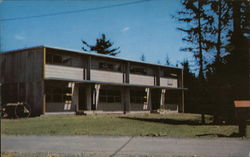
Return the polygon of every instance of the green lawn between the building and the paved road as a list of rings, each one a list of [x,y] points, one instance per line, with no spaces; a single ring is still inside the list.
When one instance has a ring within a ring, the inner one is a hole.
[[[206,116],[207,123],[210,116]],[[234,125],[199,125],[198,114],[50,116],[2,119],[7,135],[128,135],[170,137],[227,137],[238,132]],[[247,130],[250,134],[250,127]],[[249,137],[249,136],[248,136]]]

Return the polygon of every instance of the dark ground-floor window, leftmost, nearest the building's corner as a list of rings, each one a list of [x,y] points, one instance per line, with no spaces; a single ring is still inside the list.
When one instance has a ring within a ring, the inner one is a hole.
[[[71,102],[71,88],[68,87],[48,87],[46,90],[46,102],[65,103]]]

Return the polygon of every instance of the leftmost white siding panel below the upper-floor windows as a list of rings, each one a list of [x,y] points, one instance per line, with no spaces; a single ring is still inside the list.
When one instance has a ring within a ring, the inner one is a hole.
[[[76,67],[46,64],[45,78],[48,77],[83,80],[83,69]]]

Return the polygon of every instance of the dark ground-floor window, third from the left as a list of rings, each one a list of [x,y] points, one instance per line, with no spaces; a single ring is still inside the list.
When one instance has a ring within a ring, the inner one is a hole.
[[[130,102],[143,104],[147,101],[146,92],[143,90],[130,90]]]

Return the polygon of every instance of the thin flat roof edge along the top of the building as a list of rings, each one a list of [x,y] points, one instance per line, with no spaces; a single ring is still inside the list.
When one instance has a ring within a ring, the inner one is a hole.
[[[24,51],[24,50],[29,50],[29,49],[36,49],[36,48],[49,48],[49,49],[55,49],[55,50],[60,50],[60,51],[69,51],[69,52],[77,53],[77,54],[85,54],[85,55],[90,55],[90,56],[95,56],[95,57],[103,57],[103,58],[114,59],[114,60],[119,60],[119,61],[133,62],[133,63],[138,63],[138,64],[146,64],[146,65],[152,65],[152,66],[158,66],[158,67],[164,67],[164,68],[172,68],[172,69],[179,69],[179,70],[183,69],[183,68],[179,68],[179,67],[166,66],[166,65],[154,64],[154,63],[148,63],[148,62],[142,62],[142,61],[135,61],[135,60],[129,60],[129,59],[124,59],[124,58],[118,58],[118,57],[115,57],[115,56],[108,56],[108,55],[104,55],[104,54],[93,54],[93,53],[89,53],[89,52],[86,52],[86,51],[77,51],[77,50],[72,50],[72,49],[65,49],[65,48],[52,47],[52,46],[46,46],[46,45],[40,45],[40,46],[34,46],[34,47],[29,47],[29,48],[5,51],[5,52],[2,52],[2,54],[11,53],[11,52],[18,52],[18,51]]]

